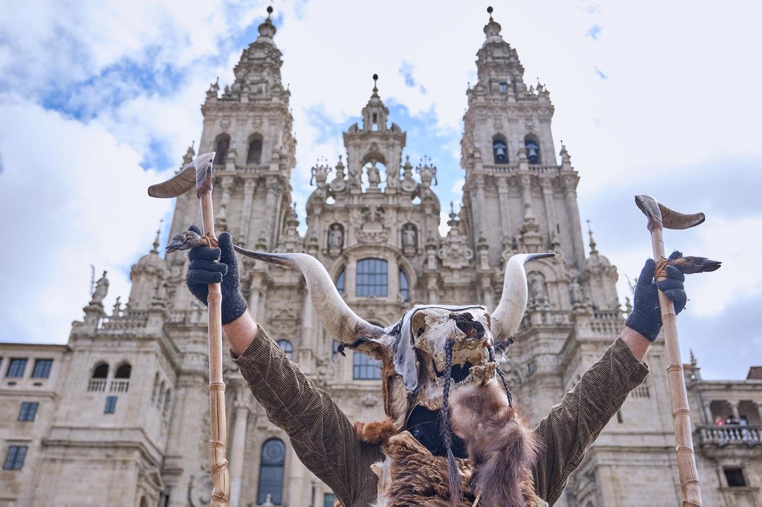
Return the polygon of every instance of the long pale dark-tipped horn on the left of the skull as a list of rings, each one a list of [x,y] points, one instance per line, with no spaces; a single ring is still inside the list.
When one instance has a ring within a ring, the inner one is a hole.
[[[361,319],[347,306],[336,290],[336,285],[325,270],[325,266],[315,257],[306,253],[257,252],[235,245],[233,248],[236,252],[252,259],[299,269],[307,282],[312,305],[315,306],[323,327],[339,342],[354,343],[360,336],[378,338],[383,335],[383,328]]]

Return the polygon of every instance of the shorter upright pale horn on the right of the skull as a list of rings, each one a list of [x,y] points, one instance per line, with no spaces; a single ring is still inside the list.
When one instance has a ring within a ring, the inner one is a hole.
[[[523,265],[553,256],[555,253],[517,253],[505,263],[503,295],[492,312],[492,335],[496,342],[507,340],[516,333],[524,311],[527,311],[527,272]]]

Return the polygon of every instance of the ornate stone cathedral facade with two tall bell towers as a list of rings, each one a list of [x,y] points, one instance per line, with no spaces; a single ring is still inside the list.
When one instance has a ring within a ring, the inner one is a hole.
[[[270,19],[244,49],[235,82],[212,85],[199,152],[216,151],[217,231],[256,250],[305,252],[328,269],[347,304],[383,327],[415,304],[494,308],[514,253],[553,251],[527,266],[530,301],[504,369],[521,410],[539,422],[616,339],[628,308],[617,273],[581,229],[580,174],[557,157],[553,105],[527,86],[517,53],[491,17],[466,92],[463,206],[438,231],[437,168],[414,167],[407,138],[374,85],[345,154],[312,169],[306,234],[292,206],[296,139],[290,91]],[[194,158],[189,148],[184,164]],[[181,196],[171,231],[200,223]],[[208,505],[207,313],[184,288],[186,256],[152,250],[131,271],[126,305],[102,304],[107,277],[66,345],[0,344],[0,507]],[[383,417],[380,371],[316,319],[301,275],[239,258],[251,314],[351,420]],[[588,450],[562,507],[680,505],[663,342],[651,373]],[[762,505],[762,375],[704,381],[686,365],[705,505]],[[231,503],[321,507],[331,491],[299,462],[225,358]],[[731,424],[725,424],[726,419]],[[719,422],[723,422],[722,425]]]

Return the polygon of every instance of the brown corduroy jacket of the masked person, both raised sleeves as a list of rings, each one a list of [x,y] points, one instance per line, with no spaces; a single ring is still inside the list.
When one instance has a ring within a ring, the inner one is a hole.
[[[347,507],[376,501],[376,474],[370,465],[384,456],[378,445],[357,440],[352,423],[322,389],[315,387],[259,327],[255,340],[233,361],[267,418],[288,433],[296,455],[331,487]],[[648,367],[619,338],[582,375],[561,403],[534,429],[542,445],[533,477],[537,495],[553,505],[584,451],[635,387]]]

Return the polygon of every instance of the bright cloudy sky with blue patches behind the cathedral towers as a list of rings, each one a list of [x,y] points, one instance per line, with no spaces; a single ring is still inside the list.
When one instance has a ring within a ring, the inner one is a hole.
[[[65,343],[107,269],[113,305],[171,202],[149,199],[199,139],[200,104],[232,82],[269,2],[10,2],[0,24],[0,340]],[[406,155],[439,167],[459,202],[459,139],[488,3],[273,2],[298,141],[303,216],[309,168],[343,153],[370,76]],[[704,378],[762,364],[762,47],[753,2],[492,2],[527,83],[539,78],[581,174],[579,203],[598,249],[626,277],[650,255],[632,196],[651,193],[704,225],[667,248],[722,260],[687,282],[684,357]],[[443,206],[444,207],[444,206]],[[162,236],[166,237],[166,228]]]

